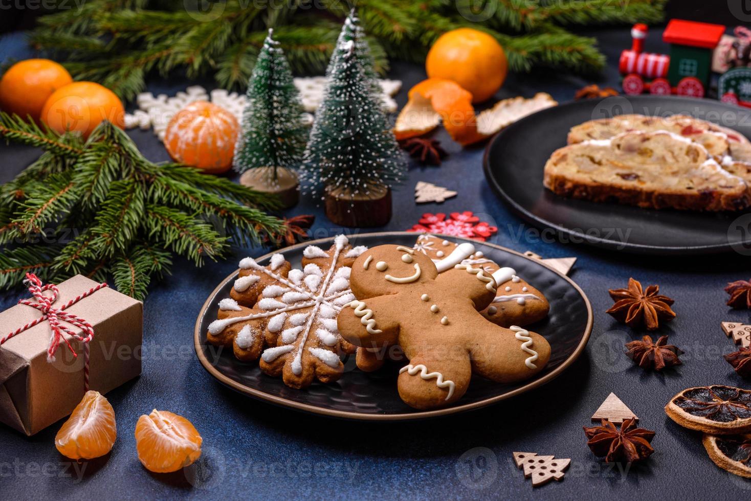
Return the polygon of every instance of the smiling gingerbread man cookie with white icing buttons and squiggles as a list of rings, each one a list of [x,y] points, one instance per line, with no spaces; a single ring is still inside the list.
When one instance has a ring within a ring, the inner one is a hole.
[[[474,251],[472,244],[461,244],[436,267],[415,249],[381,245],[352,265],[357,299],[339,313],[339,332],[364,348],[357,365],[366,370],[383,363],[384,348],[400,345],[409,365],[397,386],[412,407],[453,404],[472,374],[498,383],[525,380],[550,359],[550,345],[540,335],[504,329],[481,316],[496,297],[496,278],[461,263]],[[494,275],[504,274],[501,269]]]

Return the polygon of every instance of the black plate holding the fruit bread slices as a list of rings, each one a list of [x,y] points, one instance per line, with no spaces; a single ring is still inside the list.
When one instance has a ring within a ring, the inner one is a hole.
[[[535,226],[556,230],[562,242],[641,254],[710,254],[751,245],[751,215],[736,221],[743,214],[657,211],[567,199],[542,186],[545,162],[566,145],[571,127],[626,113],[686,113],[751,137],[749,110],[719,101],[674,96],[577,101],[534,113],[502,130],[485,150],[485,177],[512,210]]]

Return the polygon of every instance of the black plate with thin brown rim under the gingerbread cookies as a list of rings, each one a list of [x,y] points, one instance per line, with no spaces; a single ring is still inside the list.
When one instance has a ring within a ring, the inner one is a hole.
[[[412,247],[416,237],[417,234],[406,232],[366,233],[352,236],[350,243],[368,247],[382,244]],[[300,265],[303,249],[307,245],[327,248],[332,242],[333,239],[321,239],[294,245],[279,252],[284,254],[294,268]],[[532,380],[516,385],[499,385],[477,377],[472,380],[469,391],[457,405],[425,412],[412,409],[399,398],[397,376],[403,364],[386,365],[375,373],[365,373],[355,367],[354,356],[349,356],[345,360],[345,374],[336,383],[313,383],[304,390],[288,388],[282,383],[282,378],[263,374],[258,368],[258,363],[240,362],[234,358],[232,350],[221,350],[206,343],[207,328],[216,320],[218,313],[217,303],[220,299],[229,297],[237,272],[219,284],[201,310],[195,325],[195,350],[198,359],[209,374],[246,395],[297,410],[345,419],[420,419],[456,413],[483,407],[547,383],[578,358],[590,338],[592,308],[587,296],[569,278],[538,261],[496,245],[472,243],[497,263],[516,269],[529,284],[544,293],[550,302],[550,315],[547,319],[530,327],[543,335],[552,347],[547,368]],[[267,254],[259,258],[258,262],[264,263],[269,257],[270,254]]]

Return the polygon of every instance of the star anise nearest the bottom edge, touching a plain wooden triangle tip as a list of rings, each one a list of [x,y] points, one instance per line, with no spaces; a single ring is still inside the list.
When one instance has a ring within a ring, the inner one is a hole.
[[[635,419],[626,419],[620,430],[608,419],[603,419],[602,426],[585,426],[584,434],[590,450],[599,458],[605,456],[607,463],[635,463],[655,452],[650,446],[655,432],[636,428]]]

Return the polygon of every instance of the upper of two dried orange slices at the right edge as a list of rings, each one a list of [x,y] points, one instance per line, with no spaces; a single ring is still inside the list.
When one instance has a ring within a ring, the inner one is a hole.
[[[707,434],[751,432],[751,391],[732,386],[699,386],[671,398],[665,413],[684,428]]]

